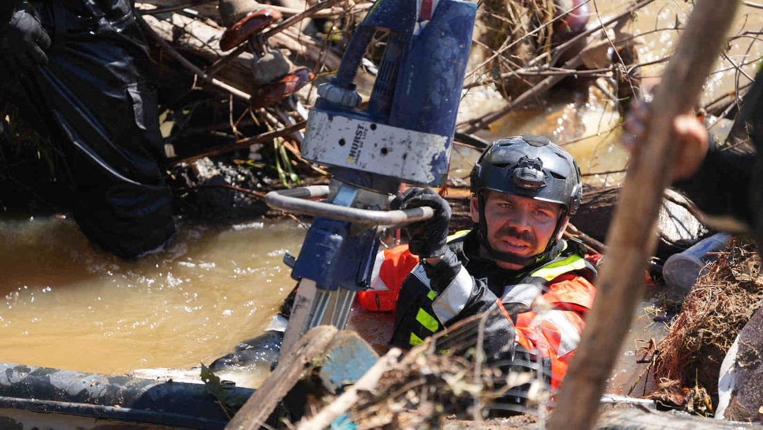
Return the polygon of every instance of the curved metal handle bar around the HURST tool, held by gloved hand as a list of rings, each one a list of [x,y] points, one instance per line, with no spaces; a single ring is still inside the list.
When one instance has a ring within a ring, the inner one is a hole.
[[[265,202],[273,209],[365,225],[405,225],[432,218],[434,215],[434,210],[429,206],[397,211],[375,211],[372,209],[348,208],[326,202],[306,200],[326,197],[328,195],[328,186],[303,186],[301,188],[268,192],[265,195]]]

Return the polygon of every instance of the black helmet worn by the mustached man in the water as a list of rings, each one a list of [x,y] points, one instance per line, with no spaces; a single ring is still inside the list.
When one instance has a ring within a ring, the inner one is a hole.
[[[482,151],[470,175],[472,193],[492,189],[559,203],[565,215],[580,207],[580,168],[567,151],[535,134],[494,141]]]

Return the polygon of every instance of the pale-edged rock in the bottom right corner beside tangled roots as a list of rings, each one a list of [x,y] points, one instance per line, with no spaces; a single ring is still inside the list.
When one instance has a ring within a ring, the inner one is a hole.
[[[739,332],[721,365],[716,419],[758,421],[763,406],[763,308]]]

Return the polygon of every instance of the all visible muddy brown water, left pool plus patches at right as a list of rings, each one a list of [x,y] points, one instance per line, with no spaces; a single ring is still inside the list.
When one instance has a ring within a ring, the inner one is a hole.
[[[601,15],[623,2],[597,2]],[[654,2],[639,15],[634,31],[671,27],[675,16],[685,22],[688,3]],[[761,14],[742,7],[734,31],[758,31]],[[665,55],[674,31],[645,37],[642,61]],[[752,39],[732,42],[729,58],[737,63]],[[760,57],[753,44],[749,58]],[[729,60],[716,64],[716,70]],[[643,68],[657,76],[662,66]],[[755,65],[745,66],[752,76]],[[744,76],[740,82],[746,82]],[[703,100],[733,89],[735,74],[716,73]],[[485,94],[465,101],[483,107]],[[476,112],[478,108],[472,106]],[[584,173],[618,170],[627,156],[620,145],[620,122],[610,102],[591,90],[555,92],[544,108],[508,115],[482,132],[487,139],[521,133],[546,134],[568,145]],[[452,176],[468,176],[478,153],[456,147]],[[592,183],[612,185],[621,175],[591,176]],[[286,252],[298,254],[304,228],[289,219],[250,221],[205,227],[182,225],[167,251],[124,262],[100,251],[65,218],[0,218],[0,360],[99,373],[124,373],[152,367],[188,368],[226,354],[238,341],[266,327],[294,281],[282,263]],[[642,372],[633,352],[636,339],[659,338],[664,327],[646,312],[660,292],[650,289],[636,311],[629,338],[610,378],[610,392],[627,393]],[[375,315],[362,331],[372,342],[388,334],[388,315]],[[358,325],[356,325],[358,327]],[[640,390],[640,386],[639,386]]]

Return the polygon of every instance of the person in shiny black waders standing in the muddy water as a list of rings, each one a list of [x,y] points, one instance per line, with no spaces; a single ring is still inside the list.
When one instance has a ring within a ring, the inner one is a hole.
[[[172,194],[134,0],[0,3],[0,87],[62,150],[82,232],[125,258],[166,244]]]

